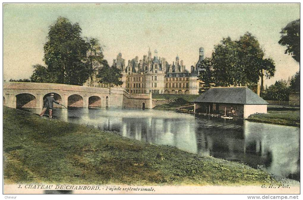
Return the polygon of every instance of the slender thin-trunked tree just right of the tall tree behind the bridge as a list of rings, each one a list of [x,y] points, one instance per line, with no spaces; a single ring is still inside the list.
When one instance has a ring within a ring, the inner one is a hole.
[[[85,38],[88,45],[88,52],[86,57],[86,65],[88,66],[88,73],[91,79],[90,86],[93,85],[93,75],[96,74],[98,68],[102,67],[102,60],[104,58],[102,47],[96,38]]]

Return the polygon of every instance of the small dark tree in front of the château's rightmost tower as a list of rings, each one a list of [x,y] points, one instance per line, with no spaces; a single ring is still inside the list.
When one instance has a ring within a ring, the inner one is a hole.
[[[206,91],[211,87],[211,84],[214,83],[214,75],[213,75],[213,68],[211,64],[210,58],[205,58],[199,64],[199,71],[198,79],[204,82],[203,88],[200,88],[202,91]]]

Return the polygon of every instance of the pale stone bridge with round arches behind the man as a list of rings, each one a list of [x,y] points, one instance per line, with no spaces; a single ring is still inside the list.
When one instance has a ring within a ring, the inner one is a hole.
[[[93,88],[55,83],[4,82],[3,105],[42,110],[44,99],[54,98],[66,107],[152,108],[151,94],[131,95],[120,88]],[[55,108],[62,108],[54,104]]]

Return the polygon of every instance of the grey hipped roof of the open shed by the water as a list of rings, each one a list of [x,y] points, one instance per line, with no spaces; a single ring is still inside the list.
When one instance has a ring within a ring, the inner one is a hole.
[[[209,88],[194,102],[232,103],[232,104],[268,104],[263,98],[246,87]]]

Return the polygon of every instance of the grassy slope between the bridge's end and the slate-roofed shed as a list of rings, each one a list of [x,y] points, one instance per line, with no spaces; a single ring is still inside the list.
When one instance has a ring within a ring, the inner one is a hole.
[[[153,109],[157,110],[176,110],[180,107],[185,107],[189,105],[193,105],[193,101],[198,98],[199,95],[171,95],[171,94],[153,94],[153,99],[171,99],[172,101],[158,105]]]

